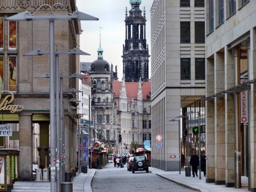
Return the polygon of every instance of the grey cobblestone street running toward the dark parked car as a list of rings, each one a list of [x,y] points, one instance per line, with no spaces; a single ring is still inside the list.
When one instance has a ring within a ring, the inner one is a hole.
[[[194,191],[151,173],[127,171],[113,164],[97,170],[92,181],[93,192],[103,191]]]

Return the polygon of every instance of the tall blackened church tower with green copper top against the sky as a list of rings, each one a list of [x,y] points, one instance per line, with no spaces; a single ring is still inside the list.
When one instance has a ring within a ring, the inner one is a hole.
[[[126,82],[148,81],[148,45],[146,44],[146,14],[139,6],[141,0],[130,0],[125,11],[125,45],[123,45],[123,73]]]

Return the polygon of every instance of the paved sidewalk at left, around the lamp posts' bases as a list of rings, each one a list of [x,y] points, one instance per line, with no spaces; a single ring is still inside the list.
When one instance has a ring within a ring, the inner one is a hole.
[[[88,169],[87,174],[79,174],[74,177],[73,192],[91,192],[91,181],[96,172],[96,169]],[[36,191],[36,192],[49,192],[51,191],[51,183],[44,181],[16,181],[14,183],[12,192],[16,191]]]

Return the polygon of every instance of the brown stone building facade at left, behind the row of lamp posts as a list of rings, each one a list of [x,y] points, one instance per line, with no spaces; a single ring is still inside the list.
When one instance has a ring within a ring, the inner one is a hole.
[[[20,180],[32,180],[32,166],[40,162],[42,167],[49,166],[49,78],[36,78],[49,73],[49,55],[24,56],[32,50],[44,50],[49,45],[49,22],[7,22],[6,17],[28,10],[35,13],[40,5],[48,3],[63,3],[69,12],[76,10],[75,1],[3,1],[0,0],[0,75],[1,75],[1,100],[13,94],[11,104],[23,105],[20,112],[11,113],[1,110],[3,124],[13,125],[13,136],[0,138],[0,145],[4,148],[18,148],[19,178]],[[40,9],[38,14],[49,13],[49,9]],[[54,14],[62,14],[63,8],[56,5]],[[63,13],[64,14],[64,13]],[[58,21],[55,22],[55,41],[62,42],[65,47],[73,49],[79,45],[81,33],[79,22]],[[64,50],[58,46],[58,50]],[[59,57],[59,69],[68,69],[70,73],[78,72],[78,57],[61,55]],[[62,71],[62,74],[66,74]],[[67,88],[78,88],[74,79],[63,79],[64,99],[75,97],[67,94]],[[3,90],[6,90],[2,92]],[[2,102],[2,101],[1,101]],[[66,164],[65,170],[76,166],[76,117],[69,109],[75,103],[65,102],[65,146]],[[37,152],[37,147],[41,151]],[[45,149],[47,152],[45,152]],[[39,161],[36,158],[39,154]],[[46,159],[47,157],[47,159]],[[58,157],[60,159],[60,157]],[[46,162],[46,164],[45,164]],[[17,164],[15,165],[17,166]]]

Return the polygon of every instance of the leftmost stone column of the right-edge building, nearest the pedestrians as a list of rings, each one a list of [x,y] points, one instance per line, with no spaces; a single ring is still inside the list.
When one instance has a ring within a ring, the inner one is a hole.
[[[205,96],[214,95],[214,59],[206,59]],[[205,101],[206,183],[215,182],[214,98]]]

